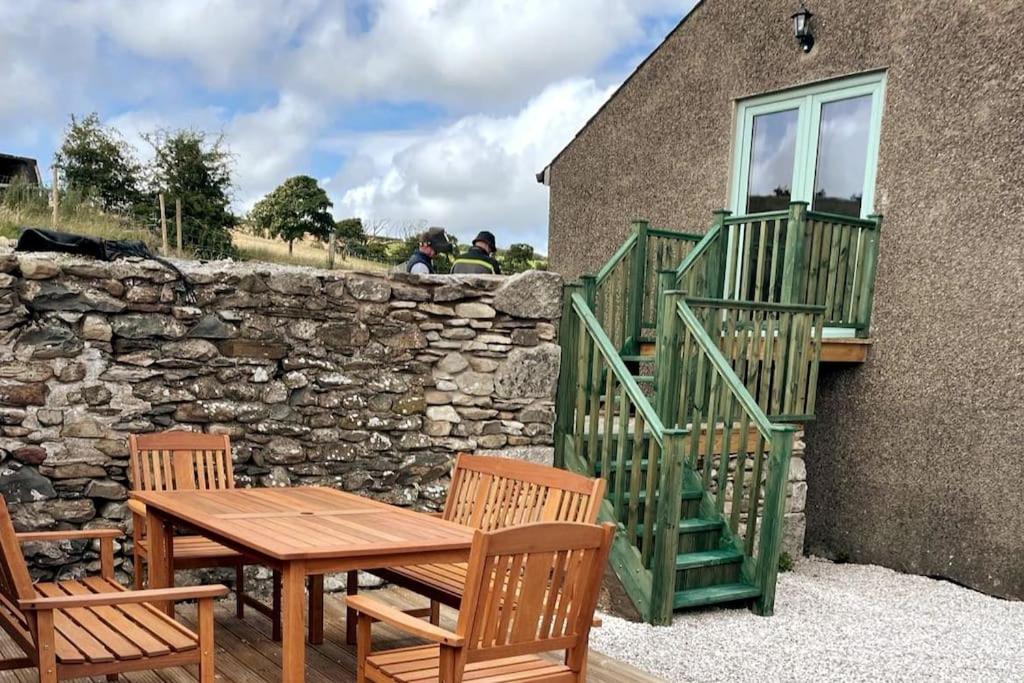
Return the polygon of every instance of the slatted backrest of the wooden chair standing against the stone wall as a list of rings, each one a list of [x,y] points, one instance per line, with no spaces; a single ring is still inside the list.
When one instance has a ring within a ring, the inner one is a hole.
[[[226,434],[175,430],[132,434],[128,443],[136,490],[234,488],[231,444]]]

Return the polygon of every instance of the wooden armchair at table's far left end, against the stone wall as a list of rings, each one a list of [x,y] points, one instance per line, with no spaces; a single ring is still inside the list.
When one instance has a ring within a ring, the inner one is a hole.
[[[136,490],[220,490],[234,488],[231,444],[224,434],[190,431],[165,431],[129,436],[132,485]],[[145,540],[145,505],[129,501],[132,511],[135,560],[134,586],[140,589],[148,559]],[[267,615],[272,623],[272,638],[281,640],[281,573],[273,571],[273,605],[267,607],[245,592],[246,558],[230,548],[202,536],[174,538],[174,568],[200,569],[233,567],[236,612],[245,616],[246,605]],[[310,610],[323,604],[323,578],[310,580]],[[310,617],[310,623],[317,621]],[[319,623],[323,623],[321,617]],[[313,625],[311,639],[317,633]]]

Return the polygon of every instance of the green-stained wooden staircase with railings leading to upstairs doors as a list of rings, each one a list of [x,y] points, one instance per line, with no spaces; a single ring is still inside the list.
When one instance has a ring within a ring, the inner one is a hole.
[[[866,335],[880,227],[802,203],[703,236],[636,222],[566,286],[556,463],[608,482],[611,565],[649,622],[772,612],[794,435],[824,329]]]

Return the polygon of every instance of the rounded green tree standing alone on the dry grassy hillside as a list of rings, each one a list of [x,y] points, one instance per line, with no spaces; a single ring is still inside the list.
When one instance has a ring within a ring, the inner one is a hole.
[[[331,200],[308,175],[296,175],[261,199],[249,214],[257,229],[288,243],[309,234],[324,241],[335,229]]]

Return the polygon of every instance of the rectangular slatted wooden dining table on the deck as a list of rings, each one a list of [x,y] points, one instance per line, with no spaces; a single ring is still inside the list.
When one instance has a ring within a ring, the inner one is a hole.
[[[146,506],[150,587],[174,584],[175,528],[210,538],[282,572],[282,680],[305,680],[307,577],[465,562],[473,530],[333,488],[137,492]],[[164,605],[172,613],[173,605]],[[323,617],[321,617],[323,618]]]

